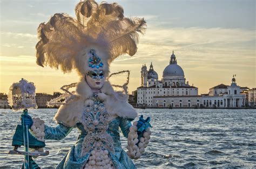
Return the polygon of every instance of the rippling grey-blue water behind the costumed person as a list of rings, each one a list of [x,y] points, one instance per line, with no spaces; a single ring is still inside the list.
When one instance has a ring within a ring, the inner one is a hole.
[[[57,109],[29,110],[55,126]],[[151,117],[151,142],[138,168],[256,168],[256,109],[137,109]],[[23,156],[7,154],[21,112],[0,109],[0,168],[21,168]],[[54,168],[75,144],[78,130],[63,140],[46,140],[47,157],[35,161]],[[125,149],[127,140],[122,137]]]

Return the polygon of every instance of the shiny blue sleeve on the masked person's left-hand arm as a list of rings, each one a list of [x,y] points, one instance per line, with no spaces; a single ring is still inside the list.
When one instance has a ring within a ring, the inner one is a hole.
[[[68,136],[73,127],[58,124],[56,127],[45,125],[45,139],[60,140]]]

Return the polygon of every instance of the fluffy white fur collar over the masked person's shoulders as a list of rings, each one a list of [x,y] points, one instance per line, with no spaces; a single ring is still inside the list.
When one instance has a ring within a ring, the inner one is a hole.
[[[93,104],[93,101],[90,100],[93,91],[84,79],[77,84],[76,91],[77,96],[75,99],[58,109],[54,117],[58,123],[75,126],[82,117],[83,107]],[[105,108],[111,116],[132,119],[137,117],[136,110],[127,102],[127,96],[114,91],[109,81],[104,82],[100,91],[101,93],[98,94],[98,97],[104,101]]]

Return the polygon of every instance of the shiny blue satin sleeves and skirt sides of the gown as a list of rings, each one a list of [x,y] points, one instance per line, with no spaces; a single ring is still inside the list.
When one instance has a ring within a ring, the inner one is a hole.
[[[111,151],[109,151],[109,153],[115,168],[136,168],[132,160],[122,149],[120,142],[119,127],[123,132],[124,137],[127,138],[130,132],[130,126],[131,122],[122,117],[113,118],[109,123],[107,133],[109,133],[113,139],[113,146],[115,151],[114,154]],[[84,156],[81,155],[81,151],[83,149],[82,143],[84,137],[86,136],[86,131],[84,130],[83,124],[77,123],[76,127],[80,131],[78,140],[76,144],[71,147],[70,151],[62,159],[62,161],[60,161],[56,168],[83,168],[84,164],[86,164],[86,161],[90,157],[90,152],[86,153]],[[71,130],[71,127],[65,126],[63,124],[59,124],[57,127],[50,127],[45,125],[45,139],[63,139],[70,133]]]

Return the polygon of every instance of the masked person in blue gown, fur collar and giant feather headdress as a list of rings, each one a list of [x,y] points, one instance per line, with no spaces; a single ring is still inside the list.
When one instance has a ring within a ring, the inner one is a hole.
[[[80,135],[57,168],[136,168],[150,139],[150,118],[131,121],[137,112],[127,102],[127,82],[115,91],[110,82],[109,66],[122,54],[137,52],[139,33],[144,33],[143,18],[126,18],[117,3],[79,2],[76,19],[56,13],[38,27],[37,64],[75,69],[78,83],[64,86],[65,102],[54,119],[56,127],[45,125],[44,139],[60,140],[73,128]],[[75,93],[67,89],[76,87]],[[118,87],[118,86],[114,86]],[[120,86],[119,86],[120,87]],[[51,101],[57,102],[57,100]],[[33,126],[33,125],[32,125]],[[120,143],[119,128],[128,138],[127,153]]]

